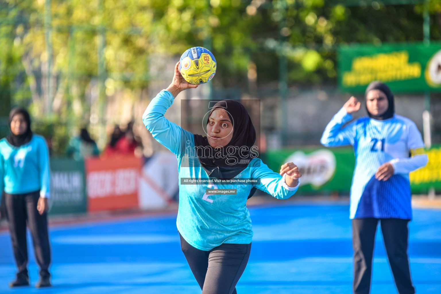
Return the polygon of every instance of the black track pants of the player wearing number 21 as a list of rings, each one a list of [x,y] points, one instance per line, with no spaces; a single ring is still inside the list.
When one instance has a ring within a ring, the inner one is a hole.
[[[352,246],[354,248],[354,294],[369,294],[372,275],[375,232],[379,219],[352,220]],[[409,268],[407,245],[409,220],[380,219],[381,232],[395,285],[400,294],[414,294]]]

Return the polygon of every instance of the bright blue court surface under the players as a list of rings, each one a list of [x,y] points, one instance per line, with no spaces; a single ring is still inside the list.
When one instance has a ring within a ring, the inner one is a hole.
[[[250,208],[254,239],[239,294],[351,293],[348,205],[302,203]],[[10,289],[15,264],[0,233],[0,293],[201,293],[179,246],[176,215],[140,216],[52,227],[50,289]],[[441,293],[441,210],[414,209],[409,254],[419,294]],[[28,236],[29,237],[29,236]],[[29,239],[30,242],[30,239]],[[37,266],[30,251],[31,283]],[[373,294],[397,293],[381,233],[375,248]]]

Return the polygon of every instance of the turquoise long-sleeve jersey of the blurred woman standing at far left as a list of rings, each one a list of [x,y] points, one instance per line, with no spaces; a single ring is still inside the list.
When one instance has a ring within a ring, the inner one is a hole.
[[[15,147],[0,140],[0,191],[7,194],[25,194],[40,191],[49,198],[49,149],[45,138],[32,135],[32,139]]]

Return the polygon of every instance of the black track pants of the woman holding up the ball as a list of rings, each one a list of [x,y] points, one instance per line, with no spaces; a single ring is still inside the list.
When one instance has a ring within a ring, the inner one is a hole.
[[[202,294],[236,294],[236,284],[250,257],[250,244],[224,243],[210,251],[196,249],[181,237],[181,249]]]

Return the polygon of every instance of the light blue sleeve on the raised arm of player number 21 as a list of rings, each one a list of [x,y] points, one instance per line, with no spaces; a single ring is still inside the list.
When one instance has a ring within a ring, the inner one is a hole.
[[[321,135],[320,142],[326,147],[354,145],[355,141],[355,123],[352,122],[342,128],[345,123],[352,119],[352,115],[348,114],[342,107],[325,128]]]

